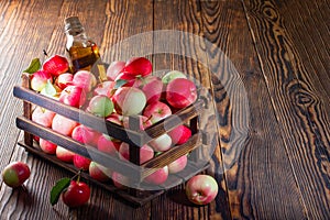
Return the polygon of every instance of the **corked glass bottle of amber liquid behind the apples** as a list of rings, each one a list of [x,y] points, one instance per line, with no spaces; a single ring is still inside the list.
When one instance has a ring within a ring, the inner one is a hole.
[[[78,16],[66,18],[65,33],[67,37],[66,52],[70,59],[73,73],[80,69],[89,70],[97,79],[102,80],[100,76],[101,58],[97,44],[87,36],[85,28]]]

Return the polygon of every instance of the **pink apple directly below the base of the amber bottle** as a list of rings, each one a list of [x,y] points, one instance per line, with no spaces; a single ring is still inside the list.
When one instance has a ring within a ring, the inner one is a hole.
[[[97,85],[97,79],[95,75],[88,70],[78,70],[74,75],[73,82],[75,86],[78,86],[88,92]]]

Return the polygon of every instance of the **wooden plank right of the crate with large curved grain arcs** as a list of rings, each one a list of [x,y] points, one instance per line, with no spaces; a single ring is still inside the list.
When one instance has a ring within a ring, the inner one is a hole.
[[[241,1],[201,2],[233,219],[304,219]],[[217,29],[218,28],[218,29]],[[222,54],[224,53],[224,55]]]

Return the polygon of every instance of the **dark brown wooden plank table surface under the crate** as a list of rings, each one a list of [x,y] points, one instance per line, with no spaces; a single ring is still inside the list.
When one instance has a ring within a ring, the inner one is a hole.
[[[0,169],[23,161],[32,170],[28,191],[0,179],[1,219],[330,219],[329,0],[14,0],[0,11]],[[90,184],[87,206],[50,205],[51,187],[72,174],[16,144],[22,101],[12,89],[43,50],[64,54],[69,15],[105,62],[147,55],[155,68],[183,70],[210,89],[213,202],[189,206],[169,190],[134,208]]]

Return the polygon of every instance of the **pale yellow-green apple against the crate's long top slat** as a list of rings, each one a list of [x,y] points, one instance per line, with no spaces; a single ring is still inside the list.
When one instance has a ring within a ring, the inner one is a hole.
[[[113,102],[111,99],[103,95],[97,95],[89,101],[87,111],[97,117],[109,117],[113,111]]]

